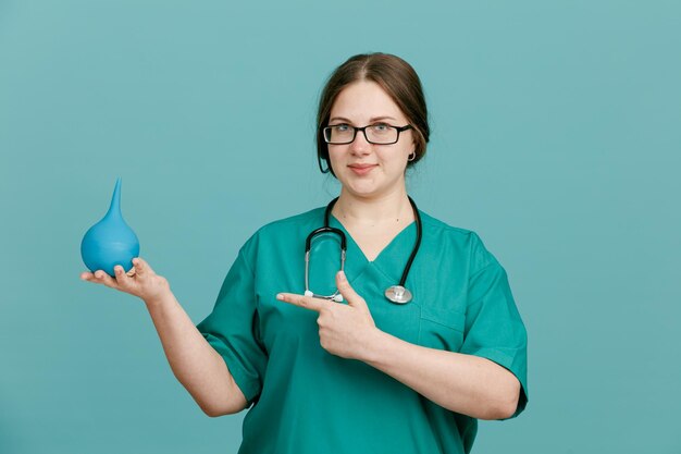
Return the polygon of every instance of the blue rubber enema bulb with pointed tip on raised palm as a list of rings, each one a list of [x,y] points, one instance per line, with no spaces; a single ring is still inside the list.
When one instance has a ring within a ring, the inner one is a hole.
[[[121,214],[121,177],[116,180],[109,211],[83,237],[81,256],[90,271],[104,270],[111,277],[113,267],[120,265],[127,272],[133,268],[133,259],[139,257],[137,235]]]

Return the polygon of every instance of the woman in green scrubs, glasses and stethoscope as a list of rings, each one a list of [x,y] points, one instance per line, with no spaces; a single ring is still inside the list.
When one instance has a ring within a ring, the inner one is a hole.
[[[250,407],[239,452],[468,453],[478,418],[524,408],[527,334],[504,269],[478,235],[407,195],[426,116],[401,59],[362,54],[336,69],[320,100],[318,158],[339,197],[251,236],[198,327],[143,259],[132,275],[82,275],[145,300],[206,414]],[[308,275],[306,240],[325,224],[346,237],[347,261],[340,234],[322,233]]]

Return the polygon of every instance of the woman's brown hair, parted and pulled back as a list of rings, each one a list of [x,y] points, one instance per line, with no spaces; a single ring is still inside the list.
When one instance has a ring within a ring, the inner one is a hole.
[[[329,124],[331,108],[338,94],[348,85],[360,81],[379,84],[407,116],[416,144],[416,157],[407,167],[413,165],[425,155],[425,144],[431,134],[421,81],[413,68],[399,57],[389,53],[362,53],[350,57],[331,74],[319,100],[317,159],[320,170],[335,176],[329,160],[329,145],[324,140],[323,128]],[[326,169],[322,167],[322,160],[326,162]]]

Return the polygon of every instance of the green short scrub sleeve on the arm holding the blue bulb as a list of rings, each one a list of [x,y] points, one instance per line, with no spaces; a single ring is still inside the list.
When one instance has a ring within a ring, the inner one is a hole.
[[[227,272],[213,311],[197,328],[224,358],[248,404],[260,394],[267,353],[258,341],[255,277],[242,249]]]

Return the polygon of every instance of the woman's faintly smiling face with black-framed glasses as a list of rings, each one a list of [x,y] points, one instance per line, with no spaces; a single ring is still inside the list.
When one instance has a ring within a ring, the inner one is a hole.
[[[375,123],[401,127],[409,122],[397,105],[370,81],[356,82],[338,94],[329,120],[330,125],[361,127]],[[356,197],[374,198],[405,191],[405,169],[414,150],[411,130],[399,133],[392,145],[374,145],[358,131],[347,145],[329,145],[329,158],[343,191]]]

